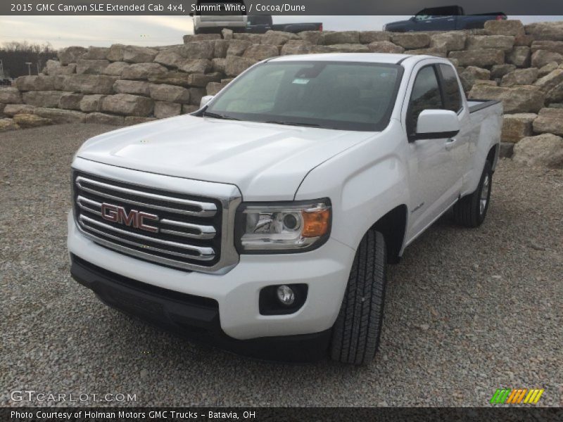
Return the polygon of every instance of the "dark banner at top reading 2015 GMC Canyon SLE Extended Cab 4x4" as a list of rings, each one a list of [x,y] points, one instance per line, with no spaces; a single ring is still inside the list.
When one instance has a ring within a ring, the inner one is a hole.
[[[203,0],[202,0],[203,1]],[[205,0],[244,4],[248,15],[414,15],[422,8],[456,4],[465,14],[563,15],[561,0]],[[0,15],[186,15],[196,0],[3,0]],[[562,17],[563,20],[563,17]]]

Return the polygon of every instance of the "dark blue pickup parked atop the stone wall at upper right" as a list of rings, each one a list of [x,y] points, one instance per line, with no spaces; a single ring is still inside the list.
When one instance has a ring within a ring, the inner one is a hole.
[[[425,8],[409,20],[400,20],[384,25],[384,31],[460,31],[474,30],[485,26],[487,20],[505,20],[502,12],[465,15],[460,6]]]

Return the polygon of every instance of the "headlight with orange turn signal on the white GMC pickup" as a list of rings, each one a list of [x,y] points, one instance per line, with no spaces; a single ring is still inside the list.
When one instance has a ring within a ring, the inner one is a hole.
[[[241,253],[315,249],[330,235],[330,200],[243,203],[236,224],[237,246]]]

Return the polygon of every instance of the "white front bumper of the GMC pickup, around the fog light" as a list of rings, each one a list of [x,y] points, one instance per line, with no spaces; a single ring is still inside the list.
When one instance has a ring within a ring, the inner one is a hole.
[[[213,300],[217,303],[215,324],[234,340],[328,331],[339,314],[355,253],[331,238],[321,248],[310,252],[241,255],[239,264],[227,274],[181,271],[103,248],[80,233],[72,213],[68,215],[68,250],[83,262],[115,274],[109,279],[122,276],[172,294]],[[80,278],[78,274],[77,279]],[[84,276],[82,279],[85,280]],[[289,315],[260,314],[260,290],[289,283],[308,284],[308,297],[303,307]],[[87,282],[87,285],[96,291],[92,283]],[[125,297],[127,295],[129,293],[125,293]]]

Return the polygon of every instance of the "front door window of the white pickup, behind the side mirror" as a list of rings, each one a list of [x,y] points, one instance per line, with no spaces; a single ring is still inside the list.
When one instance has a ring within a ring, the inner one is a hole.
[[[436,108],[443,108],[438,78],[434,66],[426,66],[419,70],[415,84],[412,85],[407,109],[407,134],[415,134],[418,116],[422,111]]]

